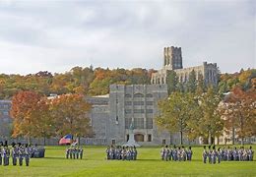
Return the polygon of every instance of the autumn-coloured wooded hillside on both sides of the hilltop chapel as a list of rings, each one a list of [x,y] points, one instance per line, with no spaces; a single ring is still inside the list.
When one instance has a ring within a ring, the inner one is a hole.
[[[109,92],[109,85],[137,85],[150,84],[151,75],[155,70],[135,68],[126,69],[102,69],[91,67],[74,67],[66,73],[51,74],[40,71],[36,74],[0,75],[0,99],[10,99],[20,90],[33,90],[41,94],[50,93],[83,93],[87,95],[99,95]],[[225,92],[239,85],[249,89],[256,83],[256,70],[241,70],[239,73],[222,74],[219,83],[220,92]]]

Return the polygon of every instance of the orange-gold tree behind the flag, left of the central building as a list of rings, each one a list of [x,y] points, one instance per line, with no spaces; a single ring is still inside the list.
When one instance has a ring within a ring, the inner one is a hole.
[[[63,94],[52,99],[51,113],[58,136],[72,134],[75,137],[92,134],[89,113],[91,104],[81,94]]]

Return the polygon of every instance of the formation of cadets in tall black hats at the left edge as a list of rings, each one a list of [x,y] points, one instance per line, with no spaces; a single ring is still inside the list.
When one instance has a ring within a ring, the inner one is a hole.
[[[12,148],[8,148],[7,145],[3,146],[3,143],[0,142],[0,165],[8,166],[10,158],[12,158],[13,165],[16,166],[17,162],[19,165],[23,165],[25,159],[26,166],[30,165],[30,158],[36,154],[37,148],[22,145],[22,144],[12,144]]]

